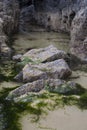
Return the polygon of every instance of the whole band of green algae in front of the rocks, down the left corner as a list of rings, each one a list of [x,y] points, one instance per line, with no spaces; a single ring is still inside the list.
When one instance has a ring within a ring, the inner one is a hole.
[[[14,102],[6,99],[12,90],[5,88],[0,92],[1,113],[3,113],[4,120],[4,128],[2,130],[21,130],[19,119],[23,113],[34,115],[32,121],[37,122],[42,114],[47,114],[47,111],[63,108],[66,105],[76,105],[80,109],[87,109],[87,92],[79,96],[66,96],[43,91],[39,94],[31,94],[31,97],[27,95],[20,98],[18,102]]]

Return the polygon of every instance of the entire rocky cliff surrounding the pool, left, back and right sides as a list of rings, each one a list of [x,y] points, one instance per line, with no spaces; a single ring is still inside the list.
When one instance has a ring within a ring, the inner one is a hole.
[[[1,0],[0,33],[10,35],[17,31],[18,25],[20,31],[38,25],[48,31],[69,32],[71,52],[86,59],[86,7],[87,0]]]

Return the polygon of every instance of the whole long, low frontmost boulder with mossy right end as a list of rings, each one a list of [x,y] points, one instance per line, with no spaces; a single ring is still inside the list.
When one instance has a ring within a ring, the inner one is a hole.
[[[85,89],[82,88],[79,84],[73,81],[64,81],[60,79],[48,79],[48,80],[37,80],[32,83],[24,84],[15,90],[11,91],[6,99],[22,99],[25,97],[27,101],[27,96],[30,99],[34,95],[39,95],[46,90],[52,93],[64,94],[64,95],[80,95],[85,92]]]

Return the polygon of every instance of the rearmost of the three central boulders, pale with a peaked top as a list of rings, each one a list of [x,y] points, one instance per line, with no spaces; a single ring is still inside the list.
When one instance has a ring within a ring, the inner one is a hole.
[[[64,59],[67,57],[67,54],[62,50],[58,50],[53,45],[50,45],[46,48],[32,49],[28,51],[23,55],[22,60],[26,57],[34,62],[49,62],[56,59]]]

